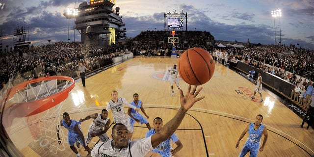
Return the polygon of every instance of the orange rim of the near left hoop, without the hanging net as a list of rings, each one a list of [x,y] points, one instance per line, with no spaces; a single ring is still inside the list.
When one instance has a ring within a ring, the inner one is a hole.
[[[35,83],[41,84],[34,86]],[[27,117],[43,112],[64,101],[74,88],[74,84],[74,79],[66,76],[36,78],[22,82],[9,89],[4,109],[14,112],[16,117]],[[12,105],[8,106],[8,103]]]

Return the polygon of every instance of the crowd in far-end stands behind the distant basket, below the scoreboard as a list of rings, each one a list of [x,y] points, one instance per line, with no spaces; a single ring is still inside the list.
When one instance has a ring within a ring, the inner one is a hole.
[[[185,50],[199,47],[210,51],[214,38],[209,31],[176,31],[178,43],[175,44],[178,55]],[[170,31],[142,31],[139,35],[125,43],[134,55],[170,56],[173,37]]]

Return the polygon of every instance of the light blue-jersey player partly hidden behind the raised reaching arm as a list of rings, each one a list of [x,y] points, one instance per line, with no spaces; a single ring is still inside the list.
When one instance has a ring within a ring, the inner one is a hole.
[[[152,129],[146,133],[145,138],[160,131],[160,129],[162,128],[162,119],[160,117],[156,117],[154,119],[154,127],[155,129]],[[175,149],[172,149],[172,141],[177,145]],[[182,148],[183,145],[180,142],[178,136],[173,133],[170,138],[161,142],[155,149],[152,150],[152,152],[158,153],[159,155],[161,155],[161,157],[172,157]]]

